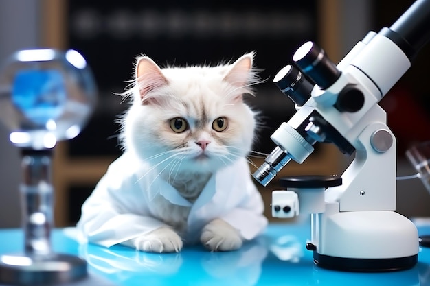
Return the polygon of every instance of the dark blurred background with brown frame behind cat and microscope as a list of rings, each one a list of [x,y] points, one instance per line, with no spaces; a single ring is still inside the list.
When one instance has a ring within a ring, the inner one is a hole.
[[[256,67],[267,82],[258,86],[249,104],[262,110],[266,127],[258,152],[271,152],[269,136],[294,113],[291,101],[271,83],[291,63],[294,51],[314,40],[331,60],[339,62],[367,32],[389,27],[414,1],[389,0],[2,0],[0,1],[0,63],[18,49],[52,47],[80,51],[93,69],[99,102],[87,128],[58,144],[54,158],[56,226],[71,226],[80,206],[117,156],[117,115],[126,109],[119,96],[131,80],[136,56],[145,53],[166,64],[218,64],[256,51]],[[430,140],[430,45],[381,101],[398,139],[398,175],[414,174],[406,148]],[[318,145],[302,165],[290,163],[286,174],[341,174],[351,158],[331,145]],[[21,225],[18,186],[19,150],[0,126],[0,227]],[[260,165],[262,158],[252,158]],[[378,166],[383,168],[383,166]],[[252,169],[254,171],[255,169]],[[278,176],[278,177],[280,177]],[[397,211],[408,217],[430,216],[430,195],[420,180],[397,183]],[[267,208],[275,180],[260,188]],[[267,214],[269,212],[267,211]]]

